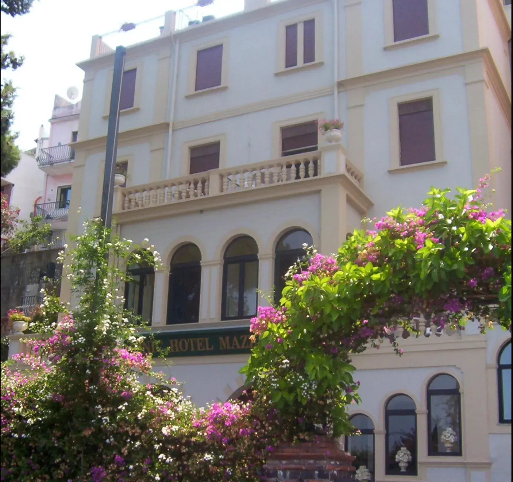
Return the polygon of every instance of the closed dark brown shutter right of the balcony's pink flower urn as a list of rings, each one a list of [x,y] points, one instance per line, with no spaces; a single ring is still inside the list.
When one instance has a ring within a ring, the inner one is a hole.
[[[436,160],[433,99],[399,104],[401,165]]]

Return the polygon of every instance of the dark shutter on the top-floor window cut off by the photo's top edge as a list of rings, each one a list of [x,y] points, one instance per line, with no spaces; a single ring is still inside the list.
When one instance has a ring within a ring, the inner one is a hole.
[[[427,0],[393,0],[392,8],[394,42],[429,33]]]

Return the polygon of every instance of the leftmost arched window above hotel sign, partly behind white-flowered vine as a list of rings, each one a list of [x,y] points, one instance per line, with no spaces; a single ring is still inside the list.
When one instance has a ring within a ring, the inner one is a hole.
[[[153,266],[147,263],[134,263],[128,266],[128,274],[132,280],[125,283],[125,309],[131,310],[134,315],[150,323],[155,286]]]

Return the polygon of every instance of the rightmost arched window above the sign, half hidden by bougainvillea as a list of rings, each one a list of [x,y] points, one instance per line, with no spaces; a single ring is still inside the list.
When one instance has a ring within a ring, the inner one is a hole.
[[[298,259],[305,254],[303,244],[313,244],[312,237],[303,229],[285,233],[276,245],[274,261],[274,301],[278,304],[285,288],[285,274]]]

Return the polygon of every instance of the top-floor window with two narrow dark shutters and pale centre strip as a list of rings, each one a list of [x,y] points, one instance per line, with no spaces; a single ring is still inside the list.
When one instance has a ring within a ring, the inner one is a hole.
[[[299,45],[301,36],[303,36],[303,45]],[[301,58],[303,58],[303,61],[301,61]],[[311,18],[304,22],[287,25],[285,27],[285,68],[310,64],[314,61],[315,19]]]

